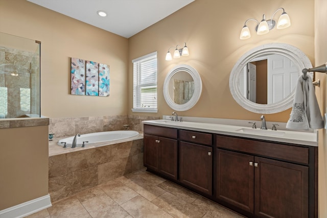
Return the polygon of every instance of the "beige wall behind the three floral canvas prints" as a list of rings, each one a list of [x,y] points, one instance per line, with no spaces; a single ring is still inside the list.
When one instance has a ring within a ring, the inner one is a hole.
[[[37,6],[0,0],[0,32],[41,41],[41,114],[127,114],[128,39]],[[110,65],[110,96],[70,93],[70,58]]]

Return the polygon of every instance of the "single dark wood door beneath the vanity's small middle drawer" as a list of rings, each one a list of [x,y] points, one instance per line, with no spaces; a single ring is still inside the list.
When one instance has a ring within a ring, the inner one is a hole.
[[[212,148],[180,142],[180,182],[212,196]]]

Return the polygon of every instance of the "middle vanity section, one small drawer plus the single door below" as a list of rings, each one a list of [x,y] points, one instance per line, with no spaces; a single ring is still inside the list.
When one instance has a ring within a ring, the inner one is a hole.
[[[207,196],[213,195],[212,137],[212,134],[180,130],[180,182]]]

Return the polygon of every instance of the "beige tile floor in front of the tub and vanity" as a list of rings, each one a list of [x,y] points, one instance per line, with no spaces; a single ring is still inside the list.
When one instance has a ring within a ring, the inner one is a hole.
[[[34,217],[243,217],[145,169],[53,202]]]

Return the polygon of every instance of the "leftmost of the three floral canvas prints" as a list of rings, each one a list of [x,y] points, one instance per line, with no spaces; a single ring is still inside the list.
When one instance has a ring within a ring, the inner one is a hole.
[[[71,60],[71,94],[85,95],[85,60]]]

